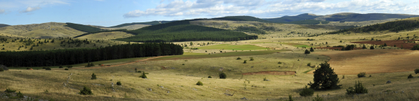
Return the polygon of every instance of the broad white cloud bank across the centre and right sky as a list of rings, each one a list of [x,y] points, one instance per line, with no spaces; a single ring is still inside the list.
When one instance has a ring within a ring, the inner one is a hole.
[[[124,17],[143,16],[207,16],[253,15],[256,17],[279,17],[279,15],[298,15],[315,13],[406,13],[415,12],[417,6],[411,1],[397,0],[346,0],[328,2],[325,0],[175,0],[163,3],[156,8],[132,10]],[[418,13],[416,11],[416,13]]]

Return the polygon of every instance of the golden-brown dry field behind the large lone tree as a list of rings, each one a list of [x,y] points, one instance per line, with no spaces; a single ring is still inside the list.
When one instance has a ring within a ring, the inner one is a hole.
[[[382,72],[406,72],[418,67],[419,51],[406,49],[360,49],[352,51],[314,52],[330,56],[328,62],[338,75]],[[313,70],[314,71],[314,70]],[[313,74],[313,71],[307,72]]]

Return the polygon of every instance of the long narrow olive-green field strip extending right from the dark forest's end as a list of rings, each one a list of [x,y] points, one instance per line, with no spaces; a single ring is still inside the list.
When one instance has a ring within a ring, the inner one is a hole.
[[[177,59],[206,59],[206,58],[219,58],[219,57],[228,57],[228,56],[251,56],[251,55],[264,55],[264,54],[273,54],[276,52],[287,52],[288,49],[281,50],[266,50],[266,51],[249,51],[249,52],[227,52],[220,54],[197,54],[197,53],[184,53],[184,55],[177,56],[166,56],[158,59],[151,59],[150,61],[160,61],[160,60],[177,60]]]

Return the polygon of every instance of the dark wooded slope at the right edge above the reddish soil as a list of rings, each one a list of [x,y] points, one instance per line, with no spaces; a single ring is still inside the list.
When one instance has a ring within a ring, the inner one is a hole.
[[[416,17],[416,18],[419,18],[419,17]],[[387,30],[398,32],[398,31],[406,31],[406,30],[413,30],[413,29],[419,29],[418,20],[396,20],[392,22],[385,22],[383,24],[374,24],[374,25],[362,26],[358,28],[334,31],[328,34],[337,34],[337,33],[345,33],[345,32],[362,33],[362,32],[370,32],[370,31],[387,31]]]

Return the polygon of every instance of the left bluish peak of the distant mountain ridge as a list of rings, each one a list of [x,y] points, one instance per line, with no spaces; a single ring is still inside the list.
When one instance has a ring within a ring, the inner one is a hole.
[[[267,20],[270,22],[285,23],[285,22],[295,22],[295,21],[302,21],[302,20],[312,20],[316,17],[319,17],[319,15],[304,13],[297,16],[284,16],[284,17],[264,19],[264,20]]]

